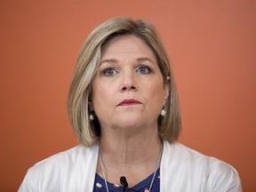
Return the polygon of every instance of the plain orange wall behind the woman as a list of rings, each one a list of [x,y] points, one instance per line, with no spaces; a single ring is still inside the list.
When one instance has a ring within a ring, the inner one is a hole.
[[[16,191],[28,167],[77,144],[66,111],[76,57],[92,28],[121,15],[151,21],[163,38],[180,142],[232,164],[255,191],[254,0],[1,0],[0,190]]]

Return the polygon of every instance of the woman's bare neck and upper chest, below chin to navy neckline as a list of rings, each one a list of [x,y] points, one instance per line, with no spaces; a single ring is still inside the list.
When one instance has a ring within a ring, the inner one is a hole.
[[[100,152],[109,182],[118,184],[120,176],[124,175],[132,187],[155,172],[162,148],[157,127],[144,131],[137,128],[129,129],[127,132],[108,130],[101,133]],[[98,168],[97,172],[102,176],[100,166]]]

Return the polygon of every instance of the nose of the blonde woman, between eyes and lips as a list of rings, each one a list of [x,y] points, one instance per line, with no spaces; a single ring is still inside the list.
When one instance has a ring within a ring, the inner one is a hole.
[[[121,85],[122,92],[124,91],[137,91],[137,84],[135,76],[132,71],[126,71],[123,76],[123,81]]]

